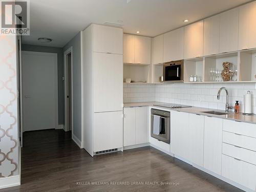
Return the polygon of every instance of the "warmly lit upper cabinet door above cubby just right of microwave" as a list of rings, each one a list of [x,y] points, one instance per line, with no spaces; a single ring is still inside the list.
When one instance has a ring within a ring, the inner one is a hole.
[[[204,21],[184,27],[184,58],[203,56]]]

